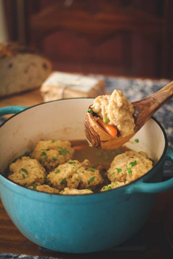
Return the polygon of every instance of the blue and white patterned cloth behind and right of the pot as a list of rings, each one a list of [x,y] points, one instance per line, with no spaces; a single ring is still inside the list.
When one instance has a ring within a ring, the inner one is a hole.
[[[105,80],[106,90],[108,92],[112,93],[114,89],[121,90],[130,102],[135,102],[154,94],[170,82],[166,79],[127,79],[124,77],[116,78],[104,76],[97,76],[97,78]],[[154,114],[154,117],[164,127],[168,136],[168,143],[173,147],[173,99],[163,105],[159,111]],[[0,119],[0,123],[3,121],[3,119]],[[170,162],[166,162],[164,167],[164,176],[170,176],[172,174],[173,167]]]

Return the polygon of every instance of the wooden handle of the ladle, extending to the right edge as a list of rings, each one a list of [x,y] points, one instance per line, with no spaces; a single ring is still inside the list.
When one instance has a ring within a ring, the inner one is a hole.
[[[158,92],[137,102],[132,102],[135,131],[138,131],[159,108],[173,97],[173,81]]]

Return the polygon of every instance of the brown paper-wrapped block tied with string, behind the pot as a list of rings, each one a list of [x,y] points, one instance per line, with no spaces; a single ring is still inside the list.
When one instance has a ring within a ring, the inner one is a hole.
[[[105,82],[96,77],[54,71],[40,88],[44,102],[105,94]]]

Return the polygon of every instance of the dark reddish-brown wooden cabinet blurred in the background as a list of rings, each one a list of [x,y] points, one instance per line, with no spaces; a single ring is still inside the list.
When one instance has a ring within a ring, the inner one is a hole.
[[[9,38],[54,69],[173,77],[172,0],[5,0]]]

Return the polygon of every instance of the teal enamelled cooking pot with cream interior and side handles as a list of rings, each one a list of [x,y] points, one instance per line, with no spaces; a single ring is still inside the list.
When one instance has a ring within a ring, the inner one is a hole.
[[[161,182],[164,163],[173,161],[173,152],[154,118],[126,146],[147,152],[157,162],[144,176],[120,188],[89,195],[57,195],[27,189],[3,176],[8,163],[30,151],[40,139],[84,139],[84,115],[92,102],[92,98],[75,98],[0,110],[0,116],[16,113],[0,127],[2,203],[25,237],[51,250],[89,253],[123,243],[144,225],[157,193],[173,188],[173,178]]]

